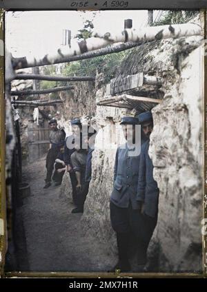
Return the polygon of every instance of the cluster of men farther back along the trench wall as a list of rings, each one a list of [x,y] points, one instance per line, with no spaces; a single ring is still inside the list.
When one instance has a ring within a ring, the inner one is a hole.
[[[47,175],[44,188],[50,187],[51,180],[55,180],[55,186],[61,185],[63,174],[68,171],[72,185],[72,201],[76,206],[72,209],[72,213],[83,213],[91,179],[91,159],[94,150],[94,147],[89,146],[88,140],[96,134],[96,131],[93,129],[92,133],[87,131],[83,134],[79,118],[75,118],[70,123],[72,134],[66,138],[63,129],[57,128],[56,119],[49,122],[50,149],[46,158]]]

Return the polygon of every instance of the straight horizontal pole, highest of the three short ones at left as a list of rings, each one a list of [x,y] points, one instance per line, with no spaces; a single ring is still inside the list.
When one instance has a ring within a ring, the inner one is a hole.
[[[48,81],[95,81],[95,77],[90,76],[49,76],[41,74],[17,74],[14,79],[22,80],[48,80]]]

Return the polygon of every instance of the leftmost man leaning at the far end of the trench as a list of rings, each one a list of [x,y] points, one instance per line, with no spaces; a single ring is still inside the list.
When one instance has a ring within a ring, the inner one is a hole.
[[[63,145],[65,140],[65,134],[61,129],[57,128],[57,120],[55,118],[52,118],[52,120],[50,120],[49,125],[51,129],[50,149],[48,150],[48,154],[46,157],[47,175],[45,179],[46,185],[43,187],[44,189],[50,187],[51,185],[51,177],[54,169],[55,159],[57,158],[61,145]]]

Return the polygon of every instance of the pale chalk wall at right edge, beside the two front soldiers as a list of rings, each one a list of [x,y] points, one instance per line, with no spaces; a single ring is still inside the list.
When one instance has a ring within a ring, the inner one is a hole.
[[[152,110],[149,154],[160,193],[149,251],[157,245],[163,271],[201,270],[201,64],[197,48],[181,63],[181,74],[163,103]]]

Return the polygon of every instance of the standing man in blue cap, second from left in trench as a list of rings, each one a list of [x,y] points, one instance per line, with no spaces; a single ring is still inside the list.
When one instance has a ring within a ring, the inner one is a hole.
[[[72,155],[73,152],[75,152],[75,147],[74,147],[75,138],[79,139],[79,141],[81,140],[82,124],[81,124],[81,120],[79,118],[75,118],[70,123],[72,126],[72,135],[68,136],[66,138],[66,141],[65,141],[64,162],[66,164],[67,171],[70,174],[70,181],[71,181],[71,185],[72,185],[72,200],[73,200],[74,205],[77,206],[78,205],[77,190],[76,190],[77,179],[75,176],[75,171],[73,171],[73,169],[72,169],[72,163],[70,160],[70,156]],[[73,145],[73,147],[72,147],[72,145]]]

